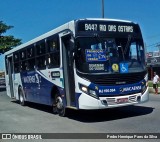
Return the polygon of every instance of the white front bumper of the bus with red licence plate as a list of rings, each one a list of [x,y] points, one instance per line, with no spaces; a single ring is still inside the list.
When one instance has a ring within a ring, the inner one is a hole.
[[[85,93],[79,97],[79,109],[106,109],[113,107],[121,107],[147,102],[149,100],[148,88],[142,93],[136,93],[125,96],[99,97],[93,98]]]

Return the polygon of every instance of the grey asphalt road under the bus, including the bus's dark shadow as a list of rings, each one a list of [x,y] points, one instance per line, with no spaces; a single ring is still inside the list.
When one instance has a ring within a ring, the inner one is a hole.
[[[67,117],[60,117],[52,114],[48,106],[29,103],[22,107],[11,100],[5,91],[0,91],[0,133],[160,133],[160,95],[150,94],[150,101],[141,105],[96,111],[69,110]]]

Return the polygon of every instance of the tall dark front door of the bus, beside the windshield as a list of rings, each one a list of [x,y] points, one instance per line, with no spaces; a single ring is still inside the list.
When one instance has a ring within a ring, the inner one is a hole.
[[[71,34],[60,34],[60,44],[62,47],[62,66],[64,90],[67,106],[76,106],[75,104],[75,80],[73,70],[73,53],[71,45]]]

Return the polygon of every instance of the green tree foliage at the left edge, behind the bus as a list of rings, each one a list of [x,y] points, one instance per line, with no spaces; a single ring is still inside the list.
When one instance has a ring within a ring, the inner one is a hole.
[[[8,26],[2,21],[0,21],[0,54],[11,50],[13,47],[21,44],[21,39],[17,39],[12,35],[3,36],[7,30],[13,28],[13,26]]]

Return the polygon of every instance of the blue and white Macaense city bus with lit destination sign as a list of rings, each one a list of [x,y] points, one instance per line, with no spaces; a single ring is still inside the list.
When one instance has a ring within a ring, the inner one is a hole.
[[[60,116],[149,99],[143,38],[131,21],[73,20],[6,52],[5,69],[9,97]]]

